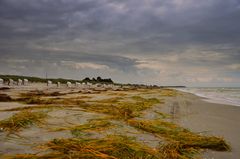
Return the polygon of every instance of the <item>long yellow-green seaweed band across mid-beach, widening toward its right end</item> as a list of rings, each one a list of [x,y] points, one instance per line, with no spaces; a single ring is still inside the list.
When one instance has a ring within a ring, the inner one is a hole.
[[[97,101],[88,101],[89,103],[86,103],[86,101],[78,98],[39,98],[33,96],[18,100],[27,104],[43,104],[46,105],[46,107],[50,105],[64,107],[74,106],[83,108],[86,111],[108,114],[118,119],[129,119],[139,116],[141,111],[161,102],[156,98],[146,99],[140,96],[134,96],[130,98],[132,100],[129,101],[123,101],[122,99],[122,97],[114,97]],[[26,107],[26,109],[34,109],[34,107]]]

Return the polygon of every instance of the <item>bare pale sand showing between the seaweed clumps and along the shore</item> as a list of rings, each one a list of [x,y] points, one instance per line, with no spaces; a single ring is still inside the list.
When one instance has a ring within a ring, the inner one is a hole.
[[[146,119],[156,119],[159,118],[155,111],[160,111],[166,114],[170,114],[171,117],[167,120],[181,125],[185,128],[190,129],[193,132],[199,132],[204,135],[213,135],[223,137],[232,147],[231,152],[216,152],[216,151],[204,151],[203,158],[206,159],[239,159],[240,157],[240,107],[214,104],[209,103],[204,100],[204,98],[195,96],[190,93],[178,92],[177,96],[161,96],[158,90],[153,90],[151,93],[146,93],[145,91],[102,91],[99,93],[79,93],[79,89],[74,88],[47,88],[43,84],[35,84],[28,87],[16,87],[10,90],[1,91],[10,95],[11,97],[17,97],[19,92],[28,92],[32,90],[44,90],[45,92],[60,91],[63,93],[68,93],[66,95],[60,96],[61,98],[81,98],[82,100],[100,100],[107,99],[116,96],[134,96],[140,95],[144,98],[158,98],[164,101],[155,105],[154,107],[144,111]],[[155,91],[155,93],[154,93]],[[158,93],[157,93],[158,92]],[[115,94],[115,95],[114,95]],[[86,96],[88,98],[86,98]],[[84,98],[83,98],[84,97]],[[23,103],[16,102],[1,102],[0,110],[6,108],[15,108],[22,106],[34,106],[26,105]],[[16,111],[1,111],[0,120],[10,117],[16,113]],[[64,126],[69,123],[79,124],[85,123],[89,119],[97,119],[99,117],[104,117],[104,114],[99,114],[97,112],[85,112],[83,109],[52,109],[48,113],[51,118],[47,120],[48,124],[53,124],[56,126]],[[142,133],[132,127],[129,127],[124,122],[115,121],[118,125],[121,125],[119,129],[113,129],[107,131],[109,134],[123,134],[128,136],[133,136],[139,139],[139,141],[155,147],[159,143],[159,139],[152,134]],[[38,134],[42,135],[39,136]],[[19,135],[28,138],[28,144],[23,146],[25,139],[14,139],[8,138],[4,133],[0,133],[0,154],[17,154],[17,153],[34,153],[36,151],[31,149],[30,144],[40,144],[47,142],[56,137],[71,137],[68,131],[63,132],[49,132],[49,130],[38,127],[31,127],[29,129],[22,130]],[[94,135],[94,134],[93,134]],[[23,140],[23,141],[22,141]],[[31,141],[31,142],[29,142]],[[1,157],[1,156],[0,156]]]

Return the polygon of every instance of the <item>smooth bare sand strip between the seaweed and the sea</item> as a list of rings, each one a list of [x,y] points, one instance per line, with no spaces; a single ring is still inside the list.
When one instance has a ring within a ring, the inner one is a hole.
[[[204,158],[240,158],[239,106],[209,103],[202,97],[182,93],[181,96],[168,98],[162,111],[173,114],[173,122],[194,132],[223,137],[232,147],[231,152],[205,152]]]

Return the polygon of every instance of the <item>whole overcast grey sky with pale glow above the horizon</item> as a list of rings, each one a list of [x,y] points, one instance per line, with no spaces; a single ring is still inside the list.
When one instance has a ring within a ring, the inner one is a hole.
[[[0,0],[0,74],[240,86],[240,0]]]

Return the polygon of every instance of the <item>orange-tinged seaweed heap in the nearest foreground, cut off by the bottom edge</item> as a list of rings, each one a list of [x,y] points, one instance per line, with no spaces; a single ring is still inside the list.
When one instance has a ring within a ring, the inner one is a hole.
[[[157,159],[155,149],[141,145],[126,136],[107,136],[103,139],[54,139],[40,148],[43,155],[21,154],[13,159]],[[51,150],[51,151],[48,151]]]

